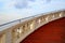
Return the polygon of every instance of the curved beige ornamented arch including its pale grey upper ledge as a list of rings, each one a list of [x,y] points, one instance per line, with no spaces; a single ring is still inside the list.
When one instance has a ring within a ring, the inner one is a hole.
[[[0,43],[20,43],[42,25],[62,17],[65,17],[65,11],[40,14],[0,25]]]

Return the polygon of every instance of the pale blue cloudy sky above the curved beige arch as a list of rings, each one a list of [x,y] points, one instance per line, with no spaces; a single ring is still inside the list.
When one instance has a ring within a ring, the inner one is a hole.
[[[65,9],[65,0],[0,0],[0,24]]]

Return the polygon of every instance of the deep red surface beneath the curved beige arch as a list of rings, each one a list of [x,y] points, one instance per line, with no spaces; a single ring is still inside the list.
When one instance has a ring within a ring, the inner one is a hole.
[[[65,17],[40,27],[21,43],[65,43]]]

